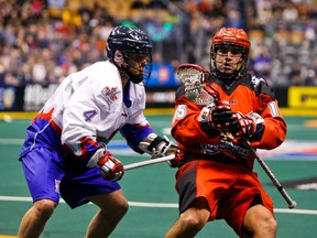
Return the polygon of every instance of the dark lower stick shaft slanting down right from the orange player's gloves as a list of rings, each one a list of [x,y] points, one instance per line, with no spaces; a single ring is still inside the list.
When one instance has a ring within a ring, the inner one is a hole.
[[[285,188],[280,183],[280,181],[274,176],[274,174],[272,173],[270,167],[266,165],[266,163],[258,155],[256,151],[254,150],[254,148],[251,147],[249,141],[248,141],[248,145],[249,145],[250,150],[252,151],[252,153],[254,154],[255,160],[258,161],[258,163],[262,166],[262,169],[264,170],[266,175],[270,177],[272,183],[275,185],[277,191],[282,194],[283,198],[288,204],[288,208],[293,209],[297,205],[296,202],[291,198],[291,196],[287,194]]]

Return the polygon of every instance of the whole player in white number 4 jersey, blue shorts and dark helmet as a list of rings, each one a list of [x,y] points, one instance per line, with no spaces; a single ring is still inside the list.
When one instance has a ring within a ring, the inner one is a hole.
[[[19,238],[40,237],[59,198],[72,207],[99,207],[86,237],[108,237],[128,210],[119,181],[124,169],[107,143],[120,131],[139,153],[177,151],[143,115],[152,71],[152,43],[139,29],[117,26],[107,42],[109,60],[70,74],[28,128],[20,154],[33,206]]]

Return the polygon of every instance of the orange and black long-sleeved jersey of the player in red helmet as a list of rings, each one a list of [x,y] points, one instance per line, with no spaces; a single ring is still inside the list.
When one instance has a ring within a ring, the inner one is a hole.
[[[273,89],[263,78],[245,74],[240,79],[225,84],[210,73],[206,78],[220,96],[220,100],[230,102],[233,112],[249,115],[255,112],[264,119],[263,127],[251,138],[251,145],[258,149],[274,149],[286,137],[286,122],[278,109]],[[199,106],[185,96],[184,86],[176,93],[176,104],[172,125],[172,136],[177,141],[181,153],[179,162],[194,159],[221,161],[247,161],[253,167],[252,153],[238,140],[223,141],[216,129],[201,127],[198,122]],[[244,159],[244,160],[243,160]],[[182,164],[182,162],[181,162]]]

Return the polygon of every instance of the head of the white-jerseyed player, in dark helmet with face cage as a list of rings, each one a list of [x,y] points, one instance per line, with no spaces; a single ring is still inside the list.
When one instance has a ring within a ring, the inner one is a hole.
[[[129,79],[144,84],[150,79],[152,72],[152,42],[140,29],[127,26],[114,28],[107,42],[107,54],[122,75]]]

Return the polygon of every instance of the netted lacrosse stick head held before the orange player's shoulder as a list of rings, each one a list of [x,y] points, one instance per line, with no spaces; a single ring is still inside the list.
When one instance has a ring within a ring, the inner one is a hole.
[[[176,76],[185,87],[186,97],[201,106],[215,104],[215,94],[211,86],[206,86],[205,71],[196,64],[181,64],[176,69]],[[218,93],[217,93],[218,94]]]

